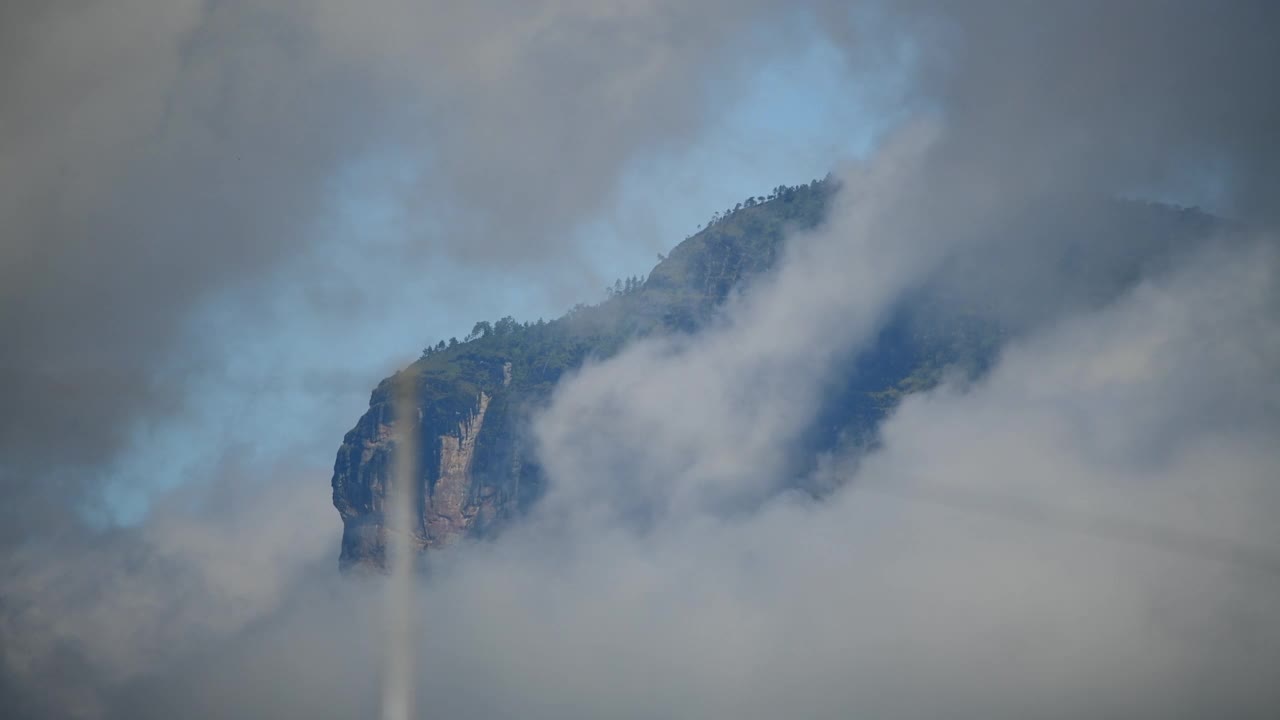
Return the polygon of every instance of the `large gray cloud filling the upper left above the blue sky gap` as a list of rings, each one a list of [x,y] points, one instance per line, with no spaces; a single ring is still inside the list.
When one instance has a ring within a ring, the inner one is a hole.
[[[696,136],[741,51],[794,40],[754,36],[764,12],[6,4],[0,473],[29,491],[9,539],[74,500],[138,423],[186,413],[192,377],[223,372],[202,304],[312,263],[307,297],[346,299],[343,322],[379,316],[378,297],[351,301],[365,278],[315,259],[338,255],[325,231],[360,168],[406,219],[369,243],[388,268],[453,255],[580,272],[570,231],[628,159]]]

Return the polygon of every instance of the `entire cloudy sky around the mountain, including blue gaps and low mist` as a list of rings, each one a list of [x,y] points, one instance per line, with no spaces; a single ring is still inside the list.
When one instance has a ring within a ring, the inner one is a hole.
[[[384,588],[337,574],[329,475],[376,382],[831,172],[828,220],[713,329],[534,418],[547,496],[415,580],[416,706],[1272,717],[1276,19],[5,4],[6,712],[375,712]],[[1114,196],[1230,222],[1171,246]],[[780,459],[920,287],[1018,340],[788,492]]]

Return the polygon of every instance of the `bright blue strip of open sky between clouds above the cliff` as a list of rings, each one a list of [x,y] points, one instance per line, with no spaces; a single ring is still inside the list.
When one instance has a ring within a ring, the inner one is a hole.
[[[283,270],[294,274],[273,278],[276,287],[255,297],[252,309],[237,306],[243,302],[237,290],[215,292],[191,324],[202,333],[212,331],[220,345],[237,351],[216,375],[182,388],[191,413],[154,425],[143,420],[140,437],[113,462],[86,514],[99,524],[137,523],[154,492],[183,482],[192,465],[221,451],[207,442],[218,432],[233,433],[224,443],[251,445],[253,438],[252,445],[268,448],[314,438],[320,455],[332,455],[378,380],[411,361],[421,346],[463,337],[480,319],[550,319],[576,302],[599,301],[613,278],[645,275],[657,254],[669,251],[717,209],[777,184],[820,178],[842,158],[867,151],[877,120],[860,115],[849,73],[829,42],[815,37],[762,63],[755,73],[741,92],[719,100],[724,108],[714,124],[680,147],[630,159],[613,196],[567,225],[580,249],[568,260],[573,277],[549,284],[543,272],[495,272],[444,254],[424,256],[396,278],[401,295],[388,305],[398,314],[366,314],[346,323],[356,334],[347,336],[338,355],[330,350],[329,309],[300,297],[310,278],[297,274],[314,268]],[[401,182],[411,172],[403,158],[372,152],[335,173],[328,205],[320,209],[332,223],[314,231],[323,243],[317,252],[329,255],[325,263],[356,275],[364,287],[387,283],[380,252],[410,242],[407,236],[417,229],[406,227],[399,199],[384,183]],[[255,327],[246,315],[260,313],[264,301],[274,318]],[[300,388],[282,377],[293,373],[329,377]],[[264,395],[273,401],[264,402]],[[302,418],[311,421],[300,423]]]

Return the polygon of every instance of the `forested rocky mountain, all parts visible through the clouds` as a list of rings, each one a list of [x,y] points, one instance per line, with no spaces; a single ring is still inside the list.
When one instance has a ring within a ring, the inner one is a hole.
[[[374,389],[369,411],[347,433],[333,474],[333,502],[343,520],[339,565],[385,565],[384,510],[394,452],[392,397],[398,383],[415,388],[419,483],[412,488],[417,546],[428,550],[466,537],[488,537],[532,506],[545,487],[529,419],[559,378],[589,357],[604,359],[627,341],[653,333],[698,333],[731,292],[746,291],[774,266],[787,232],[819,225],[836,181],[780,186],[751,197],[677,245],[649,275],[618,281],[598,305],[579,305],[552,322],[512,318],[476,323],[462,342],[424,351],[421,359]],[[1079,261],[1087,237],[1116,255],[1105,269],[1082,268],[1082,302],[1114,296],[1152,255],[1132,237],[1158,238],[1202,231],[1206,215],[1142,202],[1107,201],[1060,223],[1069,238],[1057,264]],[[1123,250],[1132,247],[1132,250]],[[1089,250],[1089,256],[1094,255]],[[1158,255],[1158,254],[1155,254]],[[970,272],[964,268],[955,272]],[[1030,278],[1034,282],[1034,278]],[[820,452],[874,443],[877,424],[902,396],[927,389],[948,369],[980,375],[1019,322],[933,283],[906,299],[873,348],[847,359],[849,373],[829,388],[797,448],[796,486]],[[814,489],[814,488],[809,488]],[[819,492],[814,489],[814,492]]]

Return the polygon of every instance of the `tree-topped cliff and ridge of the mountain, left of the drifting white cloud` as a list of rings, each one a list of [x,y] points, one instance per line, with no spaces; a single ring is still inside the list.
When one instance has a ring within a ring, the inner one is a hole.
[[[561,375],[589,356],[616,352],[628,338],[696,329],[739,281],[772,265],[787,228],[820,220],[831,192],[831,183],[814,182],[735,213],[682,242],[646,281],[628,282],[626,292],[600,305],[575,307],[550,323],[479,323],[465,342],[425,352],[406,370],[419,398],[413,437],[420,482],[412,488],[419,547],[490,534],[527,509],[544,479],[524,420]],[[388,379],[374,391],[334,462],[343,569],[385,566],[393,384]]]

